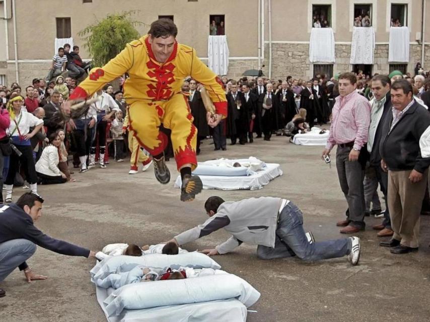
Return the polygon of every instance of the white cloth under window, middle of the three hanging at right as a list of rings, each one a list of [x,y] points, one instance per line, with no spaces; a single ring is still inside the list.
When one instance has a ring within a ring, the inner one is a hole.
[[[375,30],[373,27],[354,27],[352,31],[350,64],[373,64]]]

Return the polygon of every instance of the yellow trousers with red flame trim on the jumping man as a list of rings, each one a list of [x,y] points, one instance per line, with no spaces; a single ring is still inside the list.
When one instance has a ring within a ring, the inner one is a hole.
[[[131,100],[130,100],[131,101]],[[197,129],[188,105],[188,98],[175,94],[167,102],[131,101],[129,122],[137,142],[153,156],[163,153],[168,138],[160,132],[160,125],[172,131],[171,139],[175,153],[176,166],[179,170],[186,164],[197,167],[195,147]]]

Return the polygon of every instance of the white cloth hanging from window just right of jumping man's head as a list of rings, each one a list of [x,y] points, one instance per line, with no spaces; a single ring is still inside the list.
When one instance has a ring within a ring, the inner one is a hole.
[[[229,70],[229,46],[227,36],[209,36],[207,57],[209,68],[217,75],[227,75]]]

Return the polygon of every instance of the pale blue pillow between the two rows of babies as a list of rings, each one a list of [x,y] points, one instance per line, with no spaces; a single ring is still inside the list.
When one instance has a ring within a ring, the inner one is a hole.
[[[178,269],[181,266],[192,268],[213,268],[219,270],[221,265],[212,260],[209,256],[190,252],[178,255],[150,254],[146,256],[112,256],[96,264],[91,273],[91,281],[104,279],[111,273],[128,272],[136,264],[146,267]]]

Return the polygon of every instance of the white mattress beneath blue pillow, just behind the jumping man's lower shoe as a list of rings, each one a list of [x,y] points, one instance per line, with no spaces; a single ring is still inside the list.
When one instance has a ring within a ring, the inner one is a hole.
[[[266,168],[257,171],[255,175],[241,177],[225,177],[225,176],[199,176],[203,189],[219,189],[219,190],[257,190],[263,188],[271,180],[282,176],[282,170],[279,164],[267,163]],[[181,176],[178,176],[175,181],[175,188],[180,188],[182,184]]]

